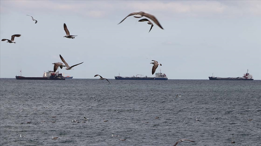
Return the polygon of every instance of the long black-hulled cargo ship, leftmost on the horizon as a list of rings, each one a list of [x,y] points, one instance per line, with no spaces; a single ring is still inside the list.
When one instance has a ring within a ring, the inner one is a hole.
[[[20,71],[21,72],[21,71]],[[43,73],[43,77],[23,77],[22,72],[20,76],[15,76],[17,80],[65,80],[62,74],[54,71],[47,71]]]

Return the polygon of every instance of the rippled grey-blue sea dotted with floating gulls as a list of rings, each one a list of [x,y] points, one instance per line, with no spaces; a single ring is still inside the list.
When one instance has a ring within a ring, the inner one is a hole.
[[[1,78],[0,145],[261,146],[261,80],[109,81]]]

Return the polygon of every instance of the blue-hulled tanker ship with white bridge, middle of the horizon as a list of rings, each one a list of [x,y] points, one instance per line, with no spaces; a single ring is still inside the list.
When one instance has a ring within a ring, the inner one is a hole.
[[[155,77],[144,77],[143,75],[136,75],[132,77],[122,77],[120,74],[118,76],[114,76],[116,80],[168,80],[168,77],[164,73],[156,73]]]

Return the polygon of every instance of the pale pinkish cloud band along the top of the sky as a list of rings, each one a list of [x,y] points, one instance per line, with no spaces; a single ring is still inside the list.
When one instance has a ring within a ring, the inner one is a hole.
[[[74,13],[87,17],[107,17],[135,11],[160,17],[240,17],[261,16],[261,1],[1,1],[1,13],[14,10]]]

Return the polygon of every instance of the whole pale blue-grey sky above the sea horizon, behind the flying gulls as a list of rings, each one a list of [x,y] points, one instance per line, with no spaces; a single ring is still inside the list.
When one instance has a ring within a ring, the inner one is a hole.
[[[146,18],[154,15],[152,30]],[[31,15],[38,22],[35,24]],[[65,38],[66,23],[75,39]],[[120,23],[120,24],[118,24]],[[149,32],[149,33],[148,33]],[[0,1],[0,78],[42,77],[63,56],[73,78],[152,75],[169,79],[261,80],[261,1]]]

